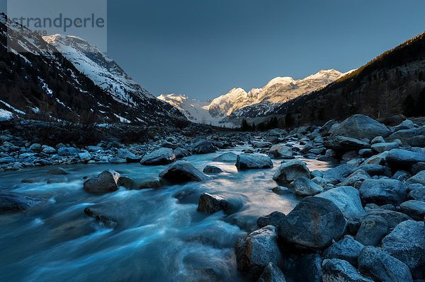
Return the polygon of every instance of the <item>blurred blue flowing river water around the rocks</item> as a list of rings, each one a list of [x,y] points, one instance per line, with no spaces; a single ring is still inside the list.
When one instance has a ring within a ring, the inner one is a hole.
[[[212,180],[93,195],[82,189],[88,175],[111,169],[134,180],[157,177],[166,166],[69,165],[66,182],[47,184],[50,168],[1,172],[0,188],[47,199],[28,211],[0,215],[0,281],[245,281],[236,267],[233,246],[259,216],[289,213],[300,199],[271,192],[273,169],[237,171],[232,163],[212,161],[222,153],[185,160],[202,170],[216,165],[224,172]],[[310,170],[329,165],[304,160]],[[40,177],[38,183],[22,183]],[[50,176],[52,177],[52,176]],[[242,210],[210,216],[196,211],[202,192],[234,192],[246,196]],[[179,196],[176,196],[179,195]],[[179,199],[177,199],[179,198]],[[102,204],[118,221],[114,229],[84,214]]]

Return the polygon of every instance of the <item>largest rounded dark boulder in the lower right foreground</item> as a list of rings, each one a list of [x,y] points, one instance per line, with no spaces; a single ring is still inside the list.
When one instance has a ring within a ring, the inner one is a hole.
[[[345,229],[346,219],[332,201],[309,196],[288,213],[278,233],[295,247],[324,249],[332,240],[338,240]]]

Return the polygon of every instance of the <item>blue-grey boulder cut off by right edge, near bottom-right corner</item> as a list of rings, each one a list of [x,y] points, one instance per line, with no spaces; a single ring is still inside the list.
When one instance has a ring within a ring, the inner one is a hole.
[[[400,223],[382,239],[382,250],[407,264],[414,278],[425,277],[424,222]]]

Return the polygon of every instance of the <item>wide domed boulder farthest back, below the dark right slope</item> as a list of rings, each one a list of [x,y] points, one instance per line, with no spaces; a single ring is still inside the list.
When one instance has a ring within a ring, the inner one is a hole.
[[[371,119],[363,114],[354,114],[332,128],[331,138],[334,136],[346,136],[354,139],[372,140],[376,136],[387,137],[391,134],[390,129],[384,124]]]

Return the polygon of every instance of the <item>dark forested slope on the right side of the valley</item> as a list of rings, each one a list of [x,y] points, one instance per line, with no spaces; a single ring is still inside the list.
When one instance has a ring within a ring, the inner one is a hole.
[[[425,33],[391,49],[326,88],[280,105],[298,124],[351,114],[389,117],[425,114]],[[422,110],[422,112],[421,112]]]

